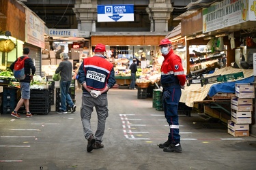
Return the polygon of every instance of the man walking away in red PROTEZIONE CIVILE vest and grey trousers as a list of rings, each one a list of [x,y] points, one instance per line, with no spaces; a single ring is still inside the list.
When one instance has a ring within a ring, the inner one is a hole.
[[[87,139],[87,152],[103,148],[102,137],[105,131],[106,118],[109,116],[107,91],[115,85],[113,65],[106,61],[104,44],[97,44],[95,55],[84,58],[79,67],[79,82],[82,84],[81,120],[83,132]],[[95,133],[91,130],[91,113],[96,108],[98,127]]]

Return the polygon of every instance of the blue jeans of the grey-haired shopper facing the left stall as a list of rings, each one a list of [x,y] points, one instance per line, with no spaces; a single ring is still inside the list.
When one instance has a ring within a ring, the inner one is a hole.
[[[70,88],[70,81],[60,81],[59,86],[61,88],[61,110],[66,111],[67,106],[66,102],[70,107],[73,107],[74,103],[70,97],[70,94],[68,93],[68,90]]]

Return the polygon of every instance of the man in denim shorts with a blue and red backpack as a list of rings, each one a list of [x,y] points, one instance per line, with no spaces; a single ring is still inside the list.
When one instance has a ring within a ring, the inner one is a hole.
[[[18,114],[18,109],[23,105],[25,105],[26,108],[26,117],[30,118],[32,114],[29,112],[29,99],[30,99],[30,81],[33,80],[33,75],[35,74],[35,65],[33,65],[33,61],[31,58],[29,58],[29,48],[23,48],[23,56],[20,56],[19,58],[10,65],[10,69],[12,71],[15,70],[15,67],[20,67],[16,65],[16,63],[20,63],[20,60],[24,60],[24,73],[25,78],[22,80],[20,78],[18,81],[20,82],[20,92],[21,92],[21,98],[18,101],[14,111],[12,112],[12,116],[15,118],[20,118],[20,115]],[[20,69],[23,69],[22,67]]]

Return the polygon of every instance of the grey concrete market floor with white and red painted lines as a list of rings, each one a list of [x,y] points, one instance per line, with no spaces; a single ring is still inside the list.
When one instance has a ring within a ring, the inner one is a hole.
[[[86,151],[76,90],[74,114],[20,119],[0,117],[0,169],[255,169],[256,138],[233,137],[227,125],[203,114],[180,115],[182,153],[158,148],[169,126],[152,98],[137,99],[137,90],[109,91],[109,118],[104,148]],[[32,113],[33,114],[33,113]],[[96,131],[96,112],[91,126]]]

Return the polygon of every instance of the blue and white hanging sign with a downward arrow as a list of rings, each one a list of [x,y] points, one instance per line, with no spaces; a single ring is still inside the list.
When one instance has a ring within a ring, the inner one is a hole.
[[[98,5],[98,22],[134,21],[134,5]]]

